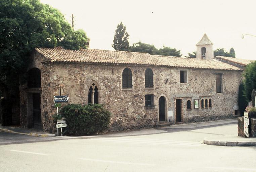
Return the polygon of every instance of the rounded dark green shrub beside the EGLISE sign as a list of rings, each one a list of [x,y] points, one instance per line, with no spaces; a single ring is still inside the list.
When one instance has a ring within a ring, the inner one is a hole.
[[[99,104],[69,104],[60,109],[66,118],[66,133],[88,135],[108,129],[111,113]]]

